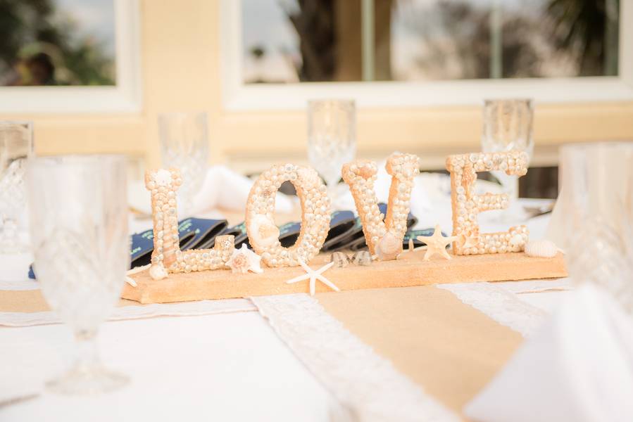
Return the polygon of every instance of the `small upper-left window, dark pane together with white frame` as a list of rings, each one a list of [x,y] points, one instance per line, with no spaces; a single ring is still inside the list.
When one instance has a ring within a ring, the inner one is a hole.
[[[141,109],[138,0],[0,0],[0,113]]]

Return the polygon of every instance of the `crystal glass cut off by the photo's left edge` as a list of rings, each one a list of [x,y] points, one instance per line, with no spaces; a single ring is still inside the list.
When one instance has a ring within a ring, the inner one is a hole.
[[[17,220],[25,208],[25,162],[32,154],[32,123],[0,121],[0,253],[27,251]]]

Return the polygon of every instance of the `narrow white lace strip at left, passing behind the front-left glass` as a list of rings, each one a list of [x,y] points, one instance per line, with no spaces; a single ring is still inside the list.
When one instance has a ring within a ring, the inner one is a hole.
[[[228,312],[253,312],[257,308],[246,299],[199,300],[197,302],[161,303],[115,307],[108,321],[153,318],[154,316],[196,316]],[[55,312],[0,312],[0,326],[24,327],[60,324]]]

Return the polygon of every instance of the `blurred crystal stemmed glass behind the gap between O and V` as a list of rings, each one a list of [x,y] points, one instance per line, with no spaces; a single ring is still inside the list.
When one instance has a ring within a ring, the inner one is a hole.
[[[337,203],[341,167],[356,156],[356,106],[353,100],[308,101],[308,161],[325,179]]]

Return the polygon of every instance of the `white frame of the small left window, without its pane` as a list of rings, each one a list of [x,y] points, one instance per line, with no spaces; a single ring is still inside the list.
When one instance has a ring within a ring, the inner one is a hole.
[[[114,0],[116,84],[0,87],[0,113],[135,113],[142,106],[138,0]]]

